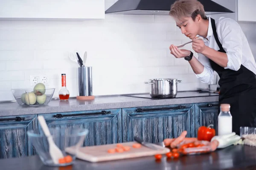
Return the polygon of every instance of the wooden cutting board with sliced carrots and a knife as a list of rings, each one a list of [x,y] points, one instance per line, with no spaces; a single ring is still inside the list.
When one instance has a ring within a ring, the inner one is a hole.
[[[124,151],[122,153],[108,153],[109,149],[116,148],[116,144],[105,144],[99,146],[90,146],[90,147],[80,147],[77,153],[77,158],[90,162],[100,162],[100,161],[113,161],[118,159],[129,159],[137,158],[143,156],[153,156],[155,154],[165,154],[170,152],[166,147],[163,147],[162,150],[153,150],[143,145],[140,148],[134,148],[132,145],[137,142],[126,142],[120,143],[123,146],[129,146],[131,149],[129,151]],[[66,148],[66,152],[74,154],[75,150],[72,147]]]

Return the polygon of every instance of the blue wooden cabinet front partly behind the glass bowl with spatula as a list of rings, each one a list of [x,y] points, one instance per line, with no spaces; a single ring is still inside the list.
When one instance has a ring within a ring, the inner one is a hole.
[[[107,112],[106,114],[102,114]],[[49,127],[59,127],[61,134],[65,134],[67,127],[79,127],[89,130],[83,146],[112,144],[122,142],[121,109],[100,111],[79,111],[65,113],[43,114]],[[41,126],[38,125],[41,129]],[[54,136],[54,134],[53,134]],[[60,146],[63,144],[60,142]]]

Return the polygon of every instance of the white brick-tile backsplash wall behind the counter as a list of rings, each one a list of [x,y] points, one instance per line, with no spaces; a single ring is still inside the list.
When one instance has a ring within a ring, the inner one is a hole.
[[[106,0],[105,8],[117,0]],[[61,74],[77,96],[79,51],[93,67],[93,95],[149,92],[148,79],[177,78],[178,91],[196,90],[189,63],[169,53],[169,45],[189,40],[169,16],[106,14],[104,20],[0,21],[0,100],[14,99],[11,88],[31,88],[29,76],[47,75],[58,97]],[[183,48],[192,50],[191,45]],[[196,54],[195,54],[196,55]],[[197,55],[196,55],[197,56]]]

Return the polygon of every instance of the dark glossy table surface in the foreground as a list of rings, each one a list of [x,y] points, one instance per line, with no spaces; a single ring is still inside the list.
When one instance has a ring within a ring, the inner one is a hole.
[[[91,163],[77,159],[72,166],[49,167],[38,156],[0,159],[0,170],[254,170],[256,147],[236,145],[212,153],[156,161],[154,156]]]

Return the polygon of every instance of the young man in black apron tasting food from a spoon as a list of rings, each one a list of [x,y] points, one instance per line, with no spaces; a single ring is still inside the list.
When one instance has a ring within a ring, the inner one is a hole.
[[[256,127],[256,63],[239,24],[225,17],[207,18],[198,0],[177,0],[169,14],[193,40],[198,59],[175,45],[169,47],[171,54],[186,59],[201,82],[210,82],[213,72],[218,73],[219,104],[230,104],[233,132],[239,135],[241,126]]]

